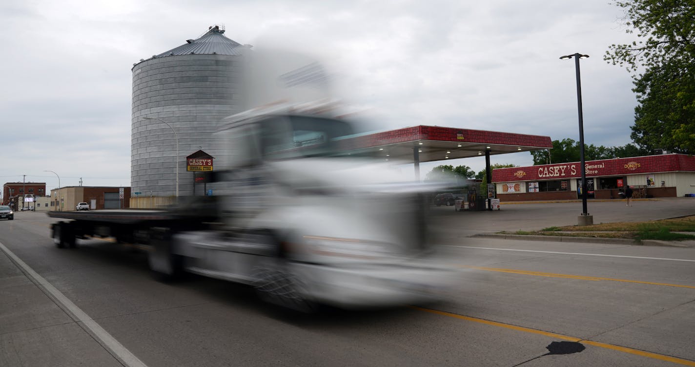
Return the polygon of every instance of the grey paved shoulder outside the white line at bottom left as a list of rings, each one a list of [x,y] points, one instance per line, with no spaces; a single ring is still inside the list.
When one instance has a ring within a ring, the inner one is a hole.
[[[25,273],[6,251],[2,245],[0,366],[137,366],[120,363],[99,335],[88,332],[84,319],[72,316],[66,305],[49,296],[47,287],[52,286],[32,271]]]

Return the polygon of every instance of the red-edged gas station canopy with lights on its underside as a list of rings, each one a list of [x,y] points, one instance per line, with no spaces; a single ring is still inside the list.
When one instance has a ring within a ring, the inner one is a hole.
[[[384,160],[432,162],[553,148],[550,137],[496,131],[413,126],[349,139],[351,152]]]

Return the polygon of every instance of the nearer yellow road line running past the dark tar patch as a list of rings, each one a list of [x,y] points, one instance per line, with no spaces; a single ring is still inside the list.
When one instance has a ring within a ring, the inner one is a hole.
[[[516,330],[516,331],[520,331],[520,332],[528,332],[528,333],[532,333],[532,334],[550,336],[550,338],[554,338],[554,339],[562,339],[562,340],[566,340],[566,341],[575,341],[578,343],[580,342],[582,344],[594,345],[595,347],[598,347],[598,348],[605,348],[605,349],[616,350],[619,352],[628,353],[630,355],[639,355],[641,357],[647,357],[647,358],[651,358],[651,359],[659,359],[660,361],[667,361],[667,362],[671,362],[671,363],[675,363],[675,364],[681,364],[683,366],[695,367],[695,361],[691,361],[689,359],[671,357],[668,355],[660,355],[658,353],[646,352],[644,350],[623,347],[621,345],[601,343],[600,341],[585,340],[585,339],[577,338],[575,336],[557,334],[554,332],[544,332],[543,330],[531,329],[530,327],[523,327],[523,326],[499,323],[497,321],[489,321],[489,320],[485,320],[483,318],[475,318],[475,317],[471,317],[471,316],[452,314],[451,312],[439,311],[436,309],[426,309],[426,308],[417,307],[417,306],[411,306],[411,308],[417,309],[419,311],[430,312],[431,314],[437,314],[437,315],[441,315],[441,316],[458,318],[459,320],[472,321],[473,323],[481,323],[481,324],[485,324],[485,325],[504,327],[505,329]]]

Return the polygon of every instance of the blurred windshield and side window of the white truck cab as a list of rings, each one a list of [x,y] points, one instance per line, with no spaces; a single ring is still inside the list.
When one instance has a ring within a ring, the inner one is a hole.
[[[336,155],[336,141],[352,134],[345,121],[304,116],[273,117],[261,130],[263,156],[270,160]]]

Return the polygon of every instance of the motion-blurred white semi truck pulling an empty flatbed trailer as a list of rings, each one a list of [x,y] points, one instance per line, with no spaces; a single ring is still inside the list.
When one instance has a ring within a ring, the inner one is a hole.
[[[316,63],[274,73],[249,65],[255,85],[279,75],[265,85],[286,83],[289,96],[322,80]],[[434,259],[427,232],[427,198],[439,187],[398,180],[384,160],[354,154],[354,123],[330,104],[254,103],[215,133],[224,148],[207,178],[214,196],[165,210],[49,212],[66,220],[51,227],[56,246],[113,237],[146,250],[161,280],[188,272],[248,284],[300,311],[439,298],[456,273]]]

